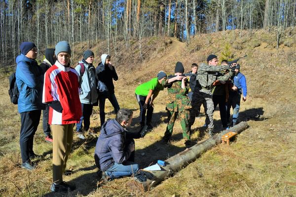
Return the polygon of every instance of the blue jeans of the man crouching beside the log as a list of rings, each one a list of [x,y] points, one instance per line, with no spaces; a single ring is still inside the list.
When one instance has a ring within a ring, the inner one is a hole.
[[[126,161],[123,164],[116,164],[105,171],[106,175],[111,179],[119,178],[122,176],[131,176],[139,170],[139,164]]]

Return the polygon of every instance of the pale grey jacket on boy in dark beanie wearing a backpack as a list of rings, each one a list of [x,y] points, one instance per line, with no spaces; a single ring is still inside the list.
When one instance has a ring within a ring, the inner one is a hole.
[[[82,73],[81,65],[84,65],[84,73]],[[84,59],[75,67],[79,75],[79,83],[81,92],[79,95],[80,102],[83,104],[94,104],[98,99],[96,84],[96,69],[92,64],[88,64]]]

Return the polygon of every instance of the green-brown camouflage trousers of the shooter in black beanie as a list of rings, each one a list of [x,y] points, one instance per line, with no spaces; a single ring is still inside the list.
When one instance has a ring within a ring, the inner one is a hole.
[[[173,133],[173,128],[175,125],[175,121],[177,119],[177,116],[181,119],[181,127],[183,130],[183,138],[186,138],[190,140],[190,129],[189,129],[189,111],[183,110],[182,112],[176,112],[176,111],[168,111],[170,113],[169,123],[166,128],[166,131],[164,133],[163,139],[169,140]]]

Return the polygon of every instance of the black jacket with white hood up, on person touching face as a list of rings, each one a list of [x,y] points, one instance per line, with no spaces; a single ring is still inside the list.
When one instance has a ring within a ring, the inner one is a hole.
[[[98,80],[107,86],[109,93],[114,94],[113,79],[114,81],[117,81],[118,76],[114,66],[112,66],[113,70],[111,70],[108,65],[105,65],[107,56],[107,54],[103,54],[101,56],[102,62],[96,67],[96,74],[98,76]]]

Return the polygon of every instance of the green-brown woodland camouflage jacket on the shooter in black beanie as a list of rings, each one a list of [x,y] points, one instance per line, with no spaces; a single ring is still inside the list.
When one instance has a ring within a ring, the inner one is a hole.
[[[189,82],[185,81],[185,89],[182,89],[182,81],[168,83],[169,78],[162,81],[162,85],[168,88],[168,97],[166,100],[166,110],[182,112],[185,109],[191,109],[190,100],[187,97]]]

